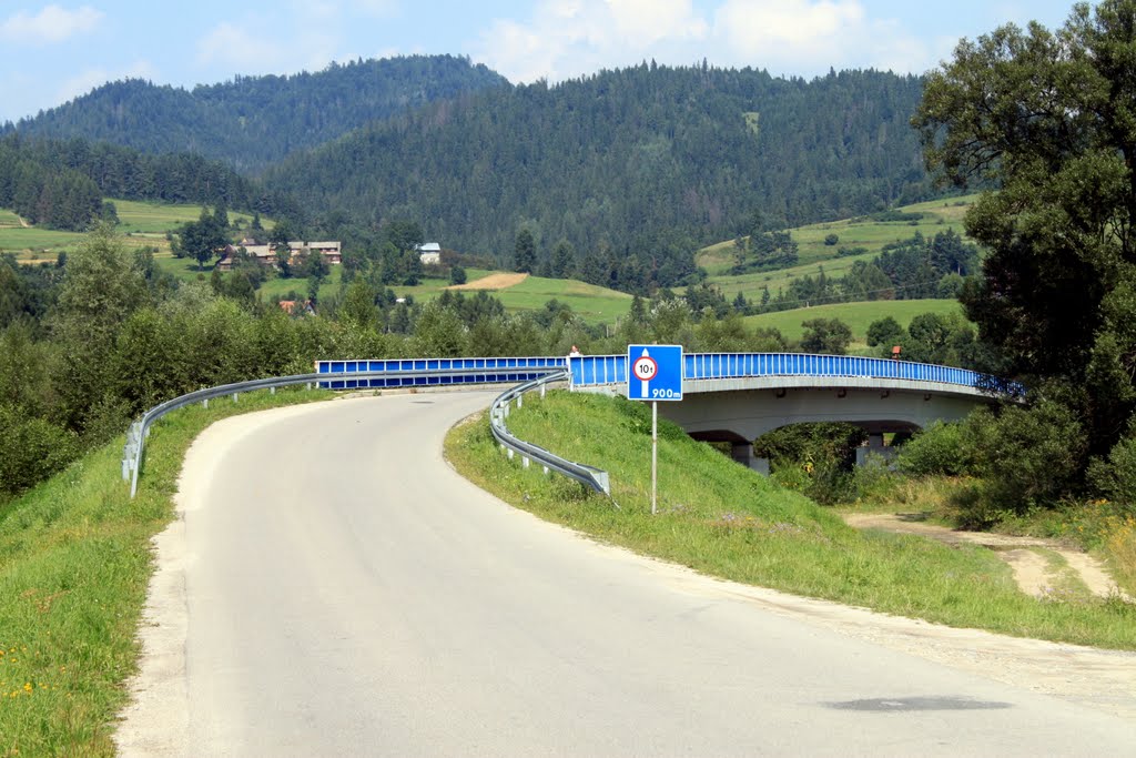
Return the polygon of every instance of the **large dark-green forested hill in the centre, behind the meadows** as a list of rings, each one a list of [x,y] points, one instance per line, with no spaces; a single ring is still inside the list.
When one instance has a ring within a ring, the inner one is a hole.
[[[307,207],[414,219],[502,259],[523,224],[544,255],[563,238],[580,256],[607,244],[642,258],[636,245],[667,247],[660,235],[747,234],[755,210],[783,227],[926,197],[909,125],[920,94],[918,77],[871,70],[805,81],[642,65],[435,103],[266,178]]]

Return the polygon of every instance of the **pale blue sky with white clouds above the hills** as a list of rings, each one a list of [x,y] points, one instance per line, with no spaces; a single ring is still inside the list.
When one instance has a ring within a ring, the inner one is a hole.
[[[192,88],[394,55],[469,56],[512,82],[654,59],[816,76],[922,73],[962,36],[1071,1],[954,0],[0,0],[0,122],[108,81]]]

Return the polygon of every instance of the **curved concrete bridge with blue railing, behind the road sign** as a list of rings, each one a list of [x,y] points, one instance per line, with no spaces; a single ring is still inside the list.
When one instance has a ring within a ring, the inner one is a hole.
[[[626,394],[626,356],[569,358],[573,389]],[[958,420],[994,395],[962,368],[850,356],[692,353],[684,356],[682,402],[659,413],[699,440],[728,442],[734,459],[768,472],[753,441],[791,424],[844,422],[868,432],[858,451],[889,455],[884,434]]]

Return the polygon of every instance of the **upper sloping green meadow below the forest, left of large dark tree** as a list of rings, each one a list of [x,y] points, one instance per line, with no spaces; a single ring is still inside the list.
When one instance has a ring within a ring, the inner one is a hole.
[[[776,297],[777,291],[786,288],[792,280],[804,275],[816,276],[820,266],[824,266],[825,276],[841,278],[857,260],[869,261],[879,255],[885,244],[910,240],[916,232],[925,238],[946,230],[962,235],[962,217],[976,197],[932,200],[899,209],[908,214],[922,214],[919,220],[878,222],[861,217],[790,230],[799,245],[800,256],[799,264],[792,268],[729,275],[727,272],[735,263],[733,240],[703,248],[696,255],[695,263],[707,269],[710,283],[718,286],[728,299],[742,292],[750,300],[758,301],[763,288],[768,286],[770,294]],[[825,238],[829,234],[835,234],[840,241],[834,245],[825,244]],[[840,248],[864,248],[867,252],[840,258]]]

